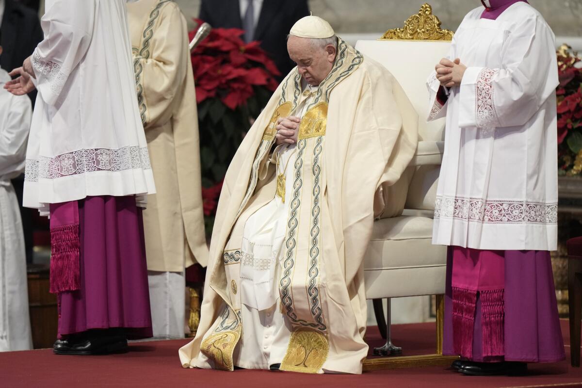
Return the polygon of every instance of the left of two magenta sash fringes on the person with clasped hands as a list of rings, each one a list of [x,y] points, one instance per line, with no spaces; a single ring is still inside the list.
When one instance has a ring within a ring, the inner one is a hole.
[[[453,287],[453,350],[473,358],[473,329],[477,291]]]

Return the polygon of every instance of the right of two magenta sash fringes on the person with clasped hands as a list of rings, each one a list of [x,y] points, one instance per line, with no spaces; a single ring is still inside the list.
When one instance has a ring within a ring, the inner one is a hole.
[[[483,357],[505,355],[503,316],[505,303],[503,289],[479,292],[481,298],[481,327],[483,330]]]

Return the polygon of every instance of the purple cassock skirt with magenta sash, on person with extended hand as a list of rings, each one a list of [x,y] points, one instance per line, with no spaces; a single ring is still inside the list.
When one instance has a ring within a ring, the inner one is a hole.
[[[87,197],[51,205],[51,292],[59,338],[124,328],[152,336],[141,208],[134,196]]]

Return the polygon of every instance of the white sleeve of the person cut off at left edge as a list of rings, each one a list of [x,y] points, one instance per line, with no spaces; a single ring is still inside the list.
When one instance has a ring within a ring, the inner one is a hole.
[[[6,91],[2,91],[6,92]],[[32,106],[28,96],[11,96],[6,120],[0,123],[0,176],[20,173],[24,168]]]

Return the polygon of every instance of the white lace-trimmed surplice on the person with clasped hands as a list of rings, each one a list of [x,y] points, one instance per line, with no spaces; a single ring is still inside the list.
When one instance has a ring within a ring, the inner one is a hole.
[[[433,243],[555,250],[555,37],[528,3],[496,20],[480,19],[483,10],[469,12],[453,37],[449,58],[467,70],[444,106],[434,72],[427,81],[428,119],[446,115]]]

